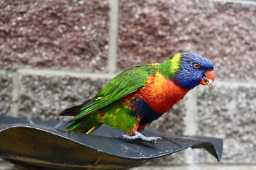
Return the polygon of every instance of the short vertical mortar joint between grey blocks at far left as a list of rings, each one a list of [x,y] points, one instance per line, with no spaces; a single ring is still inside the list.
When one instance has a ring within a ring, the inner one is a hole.
[[[19,94],[18,89],[20,85],[20,78],[18,72],[9,72],[11,74],[11,81],[12,81],[12,92],[11,92],[11,115],[16,117],[18,116],[18,101],[19,101]]]

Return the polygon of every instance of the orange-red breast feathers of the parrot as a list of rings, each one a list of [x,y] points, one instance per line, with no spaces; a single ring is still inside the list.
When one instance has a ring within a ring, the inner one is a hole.
[[[183,89],[173,81],[157,73],[147,79],[147,84],[140,89],[140,97],[157,113],[165,113],[182,100],[189,90]]]

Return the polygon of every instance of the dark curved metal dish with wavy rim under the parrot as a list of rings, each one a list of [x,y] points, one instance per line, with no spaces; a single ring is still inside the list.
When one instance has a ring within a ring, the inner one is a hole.
[[[213,137],[166,137],[155,144],[124,141],[121,132],[102,126],[93,135],[63,130],[58,121],[0,116],[0,157],[27,169],[128,169],[189,147],[221,159],[223,141]]]

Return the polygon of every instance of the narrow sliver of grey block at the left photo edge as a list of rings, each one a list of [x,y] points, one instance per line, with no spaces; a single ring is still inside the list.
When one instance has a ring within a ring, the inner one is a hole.
[[[0,72],[0,114],[11,114],[12,87],[11,74]]]

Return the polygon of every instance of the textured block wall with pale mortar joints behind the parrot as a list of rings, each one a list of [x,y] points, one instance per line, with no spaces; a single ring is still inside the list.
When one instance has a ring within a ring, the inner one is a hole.
[[[118,72],[180,51],[211,59],[216,82],[150,127],[221,137],[223,159],[188,149],[148,169],[256,169],[256,1],[0,1],[0,113],[59,119]]]

